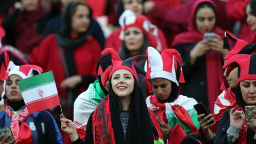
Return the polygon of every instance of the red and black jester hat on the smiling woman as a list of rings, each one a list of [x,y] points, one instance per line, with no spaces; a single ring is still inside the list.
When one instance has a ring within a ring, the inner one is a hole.
[[[132,75],[134,76],[134,78],[137,80],[137,82],[138,82],[138,74],[139,73],[142,74],[143,72],[145,73],[145,71],[143,69],[134,66],[134,60],[146,59],[147,55],[137,55],[137,56],[131,57],[129,59],[122,60],[119,57],[119,55],[116,53],[116,51],[112,48],[104,49],[101,52],[101,55],[105,55],[105,54],[111,55],[112,67],[109,67],[109,68],[111,68],[111,71],[109,74],[103,75],[103,78],[102,78],[103,86],[105,86],[107,79],[110,78],[112,76],[112,74],[116,70],[119,70],[119,69],[126,69],[126,70],[130,71],[132,73]]]

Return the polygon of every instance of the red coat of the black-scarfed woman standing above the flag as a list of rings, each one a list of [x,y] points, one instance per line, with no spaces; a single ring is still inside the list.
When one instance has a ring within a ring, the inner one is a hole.
[[[99,43],[93,37],[89,37],[83,45],[77,47],[74,51],[77,74],[96,76],[95,68],[101,53]],[[60,83],[67,77],[54,35],[46,37],[30,54],[30,63],[41,66],[44,71],[52,70],[60,97],[66,98],[66,91],[60,89]]]

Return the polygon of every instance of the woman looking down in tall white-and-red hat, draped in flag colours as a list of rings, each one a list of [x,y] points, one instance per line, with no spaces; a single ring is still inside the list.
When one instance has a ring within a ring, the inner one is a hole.
[[[147,77],[151,79],[154,95],[147,99],[147,106],[164,123],[161,128],[167,135],[172,127],[181,124],[186,133],[198,133],[199,123],[193,98],[179,94],[179,82],[184,83],[182,60],[177,50],[167,49],[160,55],[153,47],[147,49]]]

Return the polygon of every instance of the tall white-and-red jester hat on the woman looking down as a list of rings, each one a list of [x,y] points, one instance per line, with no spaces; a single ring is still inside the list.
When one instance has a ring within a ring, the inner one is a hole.
[[[166,49],[160,55],[154,47],[147,48],[147,78],[165,78],[174,82],[179,86],[180,83],[185,83],[182,71],[182,59],[179,52],[175,49]],[[179,65],[179,67],[178,67]],[[179,82],[177,81],[177,70],[180,68]],[[148,75],[150,74],[150,77]]]

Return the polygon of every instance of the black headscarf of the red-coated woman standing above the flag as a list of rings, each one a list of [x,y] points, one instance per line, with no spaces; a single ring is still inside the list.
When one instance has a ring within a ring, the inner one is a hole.
[[[79,5],[86,6],[89,9],[89,18],[92,20],[92,9],[87,3],[80,0],[70,2],[61,14],[60,34],[70,37],[72,16]]]

